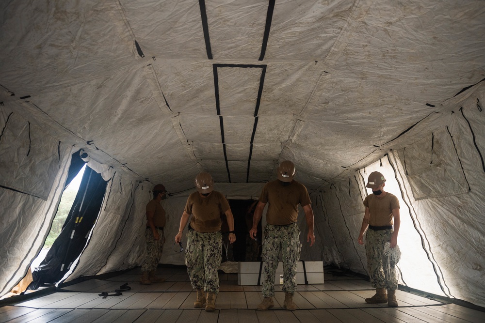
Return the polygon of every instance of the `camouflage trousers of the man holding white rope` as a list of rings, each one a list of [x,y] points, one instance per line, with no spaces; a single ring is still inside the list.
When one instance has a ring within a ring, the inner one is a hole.
[[[391,261],[389,276],[385,267],[383,268],[383,264],[386,266],[388,261],[388,257],[384,256],[384,244],[391,240],[392,232],[392,229],[379,231],[369,229],[366,234],[367,270],[374,288],[397,289],[396,263]]]

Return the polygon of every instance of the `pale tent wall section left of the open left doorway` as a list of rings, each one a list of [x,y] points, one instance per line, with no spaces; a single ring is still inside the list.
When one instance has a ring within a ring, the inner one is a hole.
[[[49,233],[76,150],[0,106],[0,295],[27,273]]]

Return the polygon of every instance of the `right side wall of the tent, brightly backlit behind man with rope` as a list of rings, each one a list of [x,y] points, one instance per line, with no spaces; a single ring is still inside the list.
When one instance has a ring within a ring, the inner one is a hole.
[[[444,102],[433,124],[312,197],[323,260],[367,274],[357,243],[367,176],[378,170],[401,204],[400,283],[485,306],[485,87]]]

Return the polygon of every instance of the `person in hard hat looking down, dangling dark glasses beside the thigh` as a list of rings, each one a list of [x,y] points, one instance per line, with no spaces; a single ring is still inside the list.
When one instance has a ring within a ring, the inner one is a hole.
[[[222,257],[221,213],[226,215],[229,242],[236,241],[229,202],[224,195],[213,190],[213,184],[209,173],[202,172],[195,177],[197,192],[187,199],[175,237],[175,242],[181,242],[182,231],[192,215],[187,232],[185,264],[192,287],[197,291],[194,308],[202,308],[207,300],[206,311],[215,310],[215,297],[219,292],[217,269]],[[207,299],[204,292],[207,292]]]

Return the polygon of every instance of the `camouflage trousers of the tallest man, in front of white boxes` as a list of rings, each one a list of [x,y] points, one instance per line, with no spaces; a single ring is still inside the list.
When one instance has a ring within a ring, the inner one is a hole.
[[[287,226],[266,224],[264,227],[264,242],[262,257],[263,297],[275,296],[275,274],[278,267],[279,254],[283,255],[283,288],[284,292],[294,294],[296,291],[296,268],[300,260],[300,229],[293,223]]]

